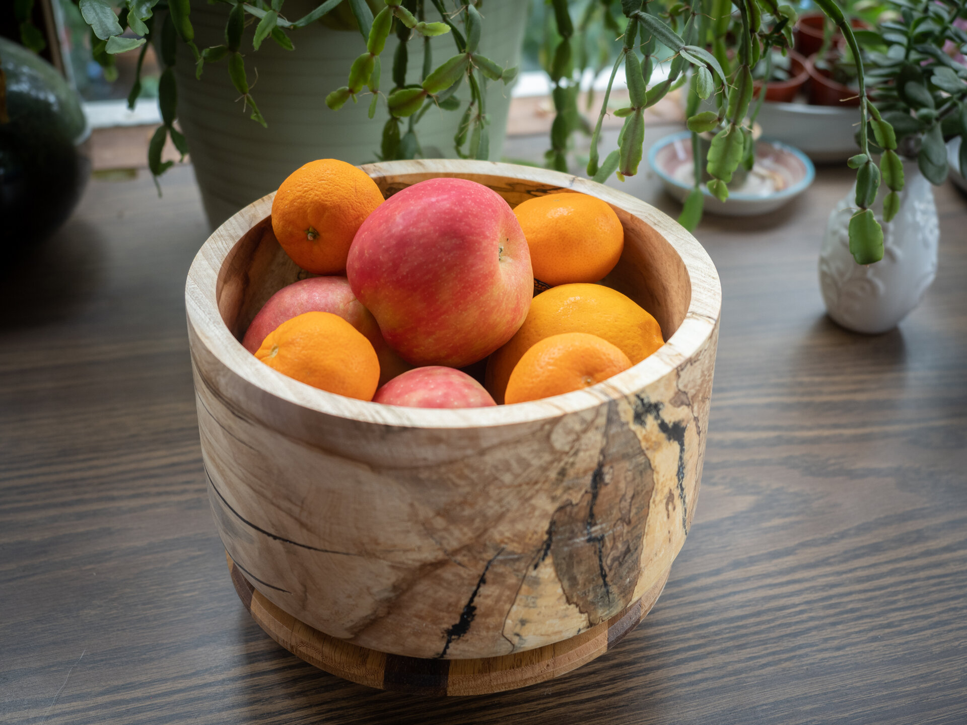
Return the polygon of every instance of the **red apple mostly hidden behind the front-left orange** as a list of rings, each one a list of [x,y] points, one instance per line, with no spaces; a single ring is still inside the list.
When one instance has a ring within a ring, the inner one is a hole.
[[[380,384],[409,369],[386,344],[376,320],[356,299],[344,276],[313,276],[282,287],[258,310],[242,338],[243,347],[254,355],[269,333],[303,312],[332,312],[363,333],[379,358]]]

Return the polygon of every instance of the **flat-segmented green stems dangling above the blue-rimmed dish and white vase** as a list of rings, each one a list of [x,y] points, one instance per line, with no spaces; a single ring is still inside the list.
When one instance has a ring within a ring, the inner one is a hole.
[[[595,2],[603,3],[605,8],[610,5],[607,0]],[[852,27],[834,0],[816,0],[816,5],[839,28],[855,60],[858,95],[862,99],[861,132],[858,138],[861,153],[851,160],[851,165],[857,168],[858,191],[857,212],[850,224],[850,248],[858,263],[870,264],[883,256],[883,231],[869,209],[876,198],[883,174],[872,160],[867,122],[872,119],[872,131],[878,142],[881,134],[886,139],[892,130],[889,122],[866,98],[863,62]],[[565,17],[567,6],[562,2],[560,7],[561,11],[555,5],[558,31],[563,39],[561,43],[570,43],[569,34],[562,31],[562,28],[571,25],[570,18]],[[668,7],[660,7],[654,2],[622,0],[621,11],[626,19],[621,36],[622,46],[604,92],[598,123],[592,131],[587,173],[596,181],[604,181],[613,173],[619,178],[637,173],[643,151],[644,110],[659,102],[670,91],[689,82],[687,113],[689,131],[692,132],[695,187],[689,194],[679,221],[694,229],[701,219],[704,205],[701,188],[703,163],[705,171],[711,176],[707,182],[708,190],[724,201],[736,169],[740,164],[750,168],[754,161],[752,124],[761,107],[762,95],[758,102],[753,103],[752,70],[765,61],[766,67],[761,73],[766,77],[771,76],[774,49],[784,53],[792,45],[796,13],[788,5],[777,4],[776,0],[681,0]],[[557,53],[554,55],[556,58]],[[661,62],[669,62],[669,73],[663,80],[651,85],[652,74]],[[625,118],[625,124],[618,136],[618,148],[601,161],[601,125],[607,113],[614,78],[622,65],[625,67],[630,105],[615,111],[615,115]],[[578,82],[582,70],[575,70],[568,87]],[[556,83],[555,90],[562,85],[557,73],[551,73],[551,79]],[[701,101],[713,104],[716,110],[698,112]],[[555,107],[556,127],[561,116],[567,116],[570,110],[567,105],[559,105],[556,98]],[[571,131],[578,130],[575,125],[569,125]],[[715,134],[707,156],[702,159],[698,136],[710,131],[715,131]],[[566,167],[559,151],[565,145],[564,140],[552,128],[553,165],[559,168]],[[897,186],[896,190],[902,188],[901,179],[896,179],[895,175],[890,179]]]

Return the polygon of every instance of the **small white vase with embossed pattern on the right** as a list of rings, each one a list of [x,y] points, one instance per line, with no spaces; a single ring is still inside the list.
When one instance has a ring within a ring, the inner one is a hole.
[[[852,188],[836,204],[826,224],[819,253],[819,284],[826,309],[835,322],[857,333],[885,333],[920,304],[937,274],[940,230],[933,188],[915,160],[903,160],[905,185],[900,208],[883,223],[880,187],[873,212],[883,225],[883,259],[859,265],[849,253],[849,219],[856,211]]]

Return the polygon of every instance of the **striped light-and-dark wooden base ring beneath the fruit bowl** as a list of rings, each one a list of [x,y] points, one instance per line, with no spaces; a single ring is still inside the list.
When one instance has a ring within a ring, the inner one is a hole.
[[[367,650],[300,622],[259,594],[227,553],[225,558],[235,591],[252,619],[286,650],[344,680],[423,695],[500,692],[560,677],[587,664],[615,647],[645,618],[670,570],[625,611],[563,642],[481,659],[423,659]]]

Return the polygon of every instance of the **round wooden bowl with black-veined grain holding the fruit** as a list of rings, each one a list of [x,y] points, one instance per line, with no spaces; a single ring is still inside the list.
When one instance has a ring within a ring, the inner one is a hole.
[[[290,630],[359,657],[517,656],[639,611],[698,495],[721,303],[708,254],[648,204],[553,171],[363,169],[387,196],[446,176],[512,206],[562,190],[603,199],[625,227],[604,283],[655,315],[666,342],[598,386],[516,405],[401,408],[310,388],[239,342],[260,305],[305,275],[272,233],[274,194],[259,199],[201,247],[186,287],[209,495],[234,565],[299,621]]]

